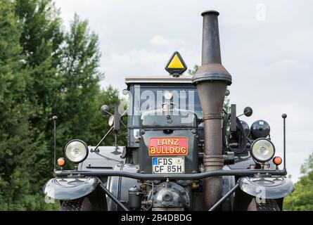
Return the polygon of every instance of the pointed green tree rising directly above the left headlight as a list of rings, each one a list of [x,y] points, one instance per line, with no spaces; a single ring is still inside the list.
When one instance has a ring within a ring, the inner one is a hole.
[[[60,135],[63,141],[73,138],[90,141],[92,120],[100,112],[96,98],[101,90],[98,82],[103,74],[98,71],[100,53],[98,37],[88,30],[86,20],[75,15],[70,31],[65,34],[62,65],[61,100],[53,111],[60,116]]]

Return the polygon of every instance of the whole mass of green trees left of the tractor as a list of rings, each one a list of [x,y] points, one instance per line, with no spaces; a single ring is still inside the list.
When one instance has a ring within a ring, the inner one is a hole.
[[[63,156],[70,139],[96,144],[108,129],[101,105],[120,102],[99,86],[98,37],[87,21],[62,24],[52,0],[0,0],[0,210],[58,209],[41,194],[53,169],[51,117]]]

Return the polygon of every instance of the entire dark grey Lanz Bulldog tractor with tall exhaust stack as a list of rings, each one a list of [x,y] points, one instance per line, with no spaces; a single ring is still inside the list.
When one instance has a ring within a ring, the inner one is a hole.
[[[294,191],[286,178],[287,115],[280,158],[267,122],[249,127],[238,119],[252,108],[242,115],[236,105],[230,113],[223,109],[232,80],[221,61],[219,13],[202,15],[202,65],[195,75],[181,75],[186,65],[175,52],[170,75],[127,77],[128,108],[115,105],[106,134],[115,133],[115,145],[101,146],[106,136],[97,146],[70,141],[64,154],[73,170],[55,156],[60,169],[44,193],[60,200],[61,210],[282,210]],[[110,114],[109,106],[101,112]],[[122,117],[128,118],[127,145],[117,146]]]

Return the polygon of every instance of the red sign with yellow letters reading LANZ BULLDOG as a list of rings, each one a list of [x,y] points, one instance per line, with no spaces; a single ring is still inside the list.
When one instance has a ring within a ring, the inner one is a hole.
[[[149,155],[188,155],[186,137],[157,137],[149,139]]]

